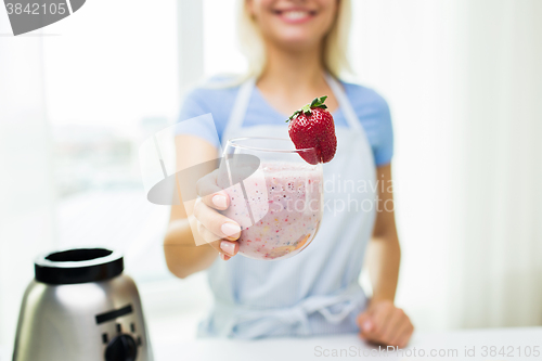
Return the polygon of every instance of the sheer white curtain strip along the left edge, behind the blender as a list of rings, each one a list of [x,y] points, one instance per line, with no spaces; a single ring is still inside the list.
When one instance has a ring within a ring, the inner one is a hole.
[[[0,11],[0,34],[9,34]],[[53,244],[54,194],[41,38],[0,37],[0,345],[13,344],[37,254]]]

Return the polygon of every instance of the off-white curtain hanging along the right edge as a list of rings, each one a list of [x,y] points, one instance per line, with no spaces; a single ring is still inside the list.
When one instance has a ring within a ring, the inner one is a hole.
[[[462,8],[453,326],[542,324],[542,2]]]

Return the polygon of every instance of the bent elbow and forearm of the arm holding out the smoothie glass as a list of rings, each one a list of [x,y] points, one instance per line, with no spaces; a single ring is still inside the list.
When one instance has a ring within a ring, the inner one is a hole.
[[[168,269],[181,279],[207,269],[217,257],[217,252],[208,245],[195,245],[186,218],[170,221],[164,254]]]

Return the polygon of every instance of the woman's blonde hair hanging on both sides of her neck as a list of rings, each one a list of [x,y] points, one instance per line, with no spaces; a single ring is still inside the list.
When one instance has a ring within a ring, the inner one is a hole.
[[[339,0],[337,17],[324,38],[324,67],[336,78],[344,73],[351,73],[347,57],[350,14],[350,0]],[[248,12],[246,0],[237,0],[237,20],[241,51],[248,61],[246,77],[258,77],[266,65],[266,49],[263,47],[263,37],[258,24]]]

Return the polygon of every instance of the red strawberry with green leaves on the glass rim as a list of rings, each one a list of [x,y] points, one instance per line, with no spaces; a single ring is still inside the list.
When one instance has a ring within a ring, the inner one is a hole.
[[[337,151],[337,137],[333,116],[324,104],[327,96],[314,98],[310,103],[294,113],[287,121],[289,138],[297,150],[314,147],[314,152],[300,152],[310,164],[327,163]]]

